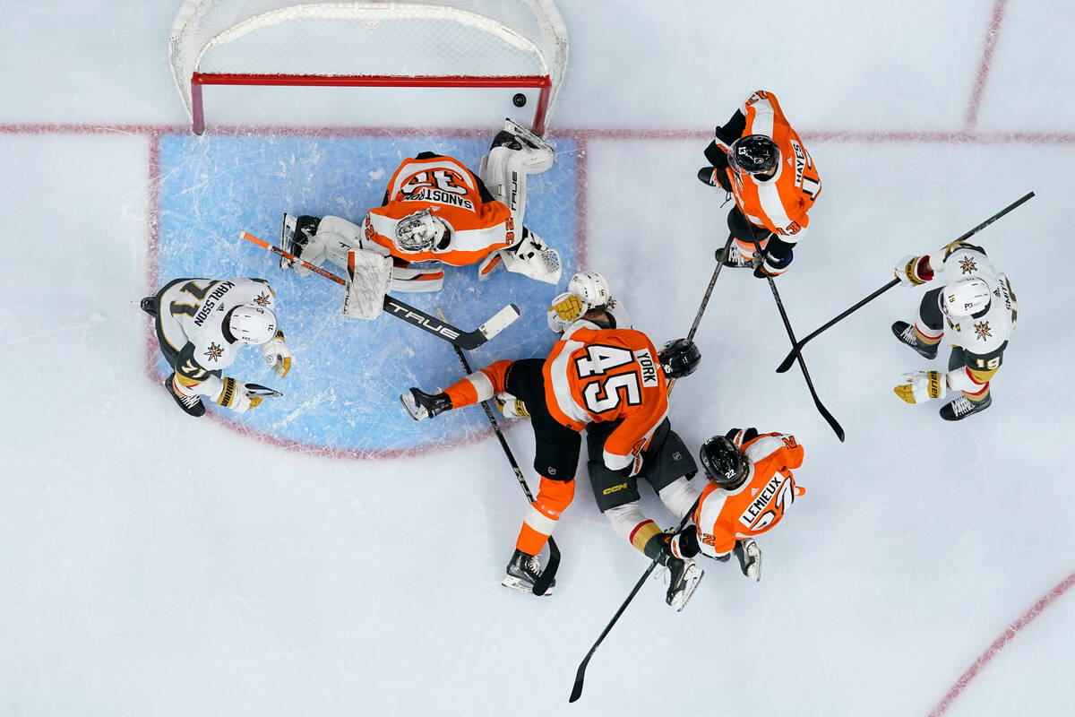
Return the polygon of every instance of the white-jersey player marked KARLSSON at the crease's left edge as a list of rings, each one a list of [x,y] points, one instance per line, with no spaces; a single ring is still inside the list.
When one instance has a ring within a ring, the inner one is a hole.
[[[244,345],[259,347],[277,376],[291,370],[278,303],[263,278],[176,278],[141,305],[154,317],[160,353],[172,367],[164,388],[191,416],[204,415],[203,396],[238,413],[261,402],[257,390],[221,375]]]

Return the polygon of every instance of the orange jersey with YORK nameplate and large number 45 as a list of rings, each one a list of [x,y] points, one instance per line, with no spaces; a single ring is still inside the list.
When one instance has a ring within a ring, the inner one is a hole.
[[[545,402],[557,422],[582,431],[620,420],[605,440],[604,463],[618,471],[645,448],[668,414],[668,383],[657,349],[634,329],[569,326],[543,367]]]

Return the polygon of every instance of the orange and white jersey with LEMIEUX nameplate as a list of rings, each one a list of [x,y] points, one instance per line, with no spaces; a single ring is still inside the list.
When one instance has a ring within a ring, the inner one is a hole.
[[[796,436],[765,433],[741,444],[742,440],[740,431],[733,441],[749,459],[747,479],[732,491],[706,485],[694,510],[699,546],[710,557],[728,554],[741,537],[770,530],[796,498],[806,492],[791,473],[803,463],[803,448]]]

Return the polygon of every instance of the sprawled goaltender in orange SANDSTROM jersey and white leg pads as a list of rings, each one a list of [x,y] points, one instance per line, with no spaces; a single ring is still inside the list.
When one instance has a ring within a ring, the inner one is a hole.
[[[436,291],[444,281],[442,264],[478,264],[478,279],[503,266],[548,284],[560,281],[560,255],[524,226],[526,176],[553,166],[553,148],[511,120],[493,139],[478,174],[457,159],[424,152],[405,159],[392,174],[381,206],[371,209],[361,226],[338,216],[284,215],[283,248],[309,263],[326,259],[348,271],[384,273],[392,291]],[[382,261],[391,257],[391,261]],[[310,273],[299,262],[281,259],[282,269]],[[383,296],[382,296],[383,299]],[[352,297],[354,300],[354,297]],[[371,309],[344,313],[376,317]]]

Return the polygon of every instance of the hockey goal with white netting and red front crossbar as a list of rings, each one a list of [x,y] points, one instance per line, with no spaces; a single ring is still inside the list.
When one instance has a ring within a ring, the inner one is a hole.
[[[568,34],[553,0],[186,0],[169,57],[198,134],[204,85],[539,88],[543,134]]]

